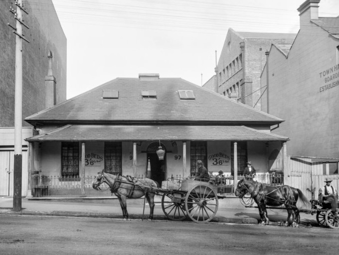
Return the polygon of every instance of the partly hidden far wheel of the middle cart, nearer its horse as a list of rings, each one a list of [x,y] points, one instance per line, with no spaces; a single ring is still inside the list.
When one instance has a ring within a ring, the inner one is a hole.
[[[161,206],[163,208],[164,214],[171,221],[183,221],[184,219],[187,218],[187,213],[185,211],[183,199],[181,199],[180,203],[172,201],[173,194],[164,193],[161,201]]]

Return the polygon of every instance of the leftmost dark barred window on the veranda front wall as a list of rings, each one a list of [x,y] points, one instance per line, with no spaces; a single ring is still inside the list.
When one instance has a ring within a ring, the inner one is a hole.
[[[79,176],[79,143],[63,142],[61,145],[61,176]]]

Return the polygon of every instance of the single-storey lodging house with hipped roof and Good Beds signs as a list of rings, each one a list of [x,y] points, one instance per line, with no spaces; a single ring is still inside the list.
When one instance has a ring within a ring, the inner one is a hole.
[[[247,161],[258,173],[283,170],[289,140],[271,133],[282,119],[159,74],[116,78],[25,121],[39,133],[26,139],[30,173],[61,181],[104,169],[162,183],[191,175],[197,160],[236,179]]]

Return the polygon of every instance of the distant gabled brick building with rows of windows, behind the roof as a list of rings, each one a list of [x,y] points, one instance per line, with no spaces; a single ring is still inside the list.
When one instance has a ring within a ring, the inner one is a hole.
[[[292,43],[295,34],[238,32],[228,29],[216,75],[203,87],[260,109],[260,74],[272,43]],[[216,85],[217,84],[217,85]]]

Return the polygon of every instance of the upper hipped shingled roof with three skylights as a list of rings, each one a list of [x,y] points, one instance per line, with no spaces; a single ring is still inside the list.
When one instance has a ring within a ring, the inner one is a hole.
[[[103,98],[103,90],[117,90],[118,98]],[[195,99],[180,99],[178,91],[192,91]],[[155,91],[145,100],[142,91]],[[283,120],[238,103],[181,78],[116,78],[49,109],[25,118],[35,123],[266,123]]]

